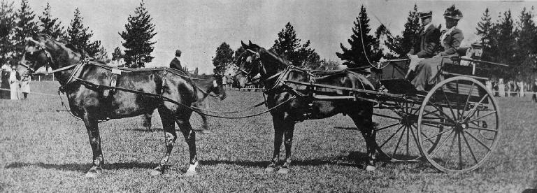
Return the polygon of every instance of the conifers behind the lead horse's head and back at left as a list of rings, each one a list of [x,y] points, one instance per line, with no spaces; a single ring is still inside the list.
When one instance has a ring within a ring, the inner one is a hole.
[[[80,10],[74,10],[73,19],[67,27],[62,21],[51,14],[50,4],[47,3],[43,12],[36,15],[31,10],[28,0],[20,2],[20,8],[15,10],[14,2],[0,1],[0,62],[16,64],[24,51],[24,39],[36,34],[48,34],[57,41],[66,43],[87,57],[102,62],[110,62],[108,52],[101,45],[101,41],[92,40],[93,31],[84,24],[84,17]],[[36,17],[37,16],[37,17]],[[155,24],[145,8],[142,0],[140,6],[129,15],[125,31],[118,32],[123,38],[121,48],[116,47],[112,59],[124,59],[124,66],[140,68],[151,62],[155,41],[151,41],[155,32]]]

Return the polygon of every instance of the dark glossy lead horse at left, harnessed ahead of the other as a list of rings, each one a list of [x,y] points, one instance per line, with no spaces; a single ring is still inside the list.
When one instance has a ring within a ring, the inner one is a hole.
[[[189,118],[192,103],[202,101],[210,92],[225,98],[221,83],[210,78],[203,85],[195,85],[190,78],[168,68],[160,69],[110,69],[101,62],[82,61],[82,55],[68,48],[64,43],[55,41],[48,35],[40,34],[27,38],[24,55],[17,70],[21,73],[34,71],[50,64],[58,69],[55,76],[69,100],[71,113],[84,121],[93,151],[92,167],[86,177],[98,176],[103,169],[99,120],[120,119],[149,113],[157,108],[165,132],[166,150],[159,165],[151,171],[152,175],[164,173],[177,134],[175,123],[189,146],[189,169],[187,176],[196,174],[196,133],[192,130]],[[112,73],[112,71],[116,71]],[[117,78],[113,78],[116,76]],[[112,85],[118,89],[97,85]],[[221,81],[220,81],[221,82]],[[124,90],[121,90],[121,89]],[[130,92],[143,92],[140,94]],[[152,95],[150,95],[152,94]],[[163,100],[169,98],[177,103]]]

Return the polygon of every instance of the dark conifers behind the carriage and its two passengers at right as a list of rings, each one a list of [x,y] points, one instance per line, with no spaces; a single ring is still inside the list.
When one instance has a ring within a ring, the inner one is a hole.
[[[523,8],[515,22],[511,10],[507,10],[501,13],[496,21],[492,21],[489,9],[486,8],[475,31],[464,31],[478,35],[477,41],[483,46],[482,60],[510,65],[506,68],[485,64],[491,69],[490,78],[517,81],[537,78],[537,25],[533,11],[534,7]],[[361,6],[352,36],[348,40],[350,48],[345,48],[342,43],[343,52],[336,52],[336,55],[345,61],[343,64],[348,67],[376,64],[381,58],[404,57],[420,36],[422,26],[419,19],[415,5],[413,10],[408,12],[401,34],[393,36],[382,24],[371,34],[366,8]],[[439,26],[443,30],[441,25]]]

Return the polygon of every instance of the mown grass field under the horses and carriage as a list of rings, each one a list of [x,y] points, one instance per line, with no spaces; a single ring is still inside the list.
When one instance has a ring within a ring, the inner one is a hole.
[[[57,82],[32,82],[33,92],[55,94]],[[65,100],[65,98],[64,98]],[[210,101],[213,110],[233,110],[262,100],[259,92],[228,92]],[[105,171],[84,178],[91,148],[83,122],[71,117],[56,96],[0,100],[0,192],[522,192],[537,188],[537,105],[524,98],[498,98],[503,136],[480,169],[440,173],[427,162],[385,163],[368,172],[356,164],[365,143],[348,117],[296,124],[294,162],[287,175],[264,173],[272,155],[268,114],[211,120],[213,134],[197,135],[198,175],[182,176],[188,150],[181,135],[171,169],[150,176],[164,152],[158,113],[148,132],[140,117],[99,124]],[[258,111],[266,110],[259,108]],[[193,116],[193,127],[200,127]],[[375,119],[382,122],[382,119]]]

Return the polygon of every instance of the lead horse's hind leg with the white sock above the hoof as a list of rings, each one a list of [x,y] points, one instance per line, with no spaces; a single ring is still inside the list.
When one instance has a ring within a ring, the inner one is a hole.
[[[196,166],[198,166],[198,157],[196,155],[196,132],[192,130],[189,117],[182,117],[176,120],[176,122],[179,125],[182,136],[185,136],[185,141],[188,144],[188,151],[190,153],[190,165],[185,176],[194,176],[196,175]]]

